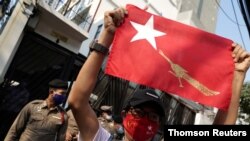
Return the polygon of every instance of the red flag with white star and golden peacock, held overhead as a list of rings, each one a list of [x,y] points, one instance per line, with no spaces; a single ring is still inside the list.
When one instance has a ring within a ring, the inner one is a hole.
[[[227,109],[232,93],[232,41],[127,5],[106,73]]]

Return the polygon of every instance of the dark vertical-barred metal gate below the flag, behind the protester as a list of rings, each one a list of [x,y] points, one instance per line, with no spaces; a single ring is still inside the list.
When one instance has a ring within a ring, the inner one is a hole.
[[[98,100],[93,103],[93,108],[98,111],[101,105],[112,105],[113,114],[120,115],[124,102],[138,88],[146,88],[146,86],[131,87],[129,81],[105,75],[101,71],[93,92],[98,96]],[[166,125],[194,124],[196,113],[192,109],[169,94],[161,92],[160,95],[165,106],[166,116],[163,120]]]

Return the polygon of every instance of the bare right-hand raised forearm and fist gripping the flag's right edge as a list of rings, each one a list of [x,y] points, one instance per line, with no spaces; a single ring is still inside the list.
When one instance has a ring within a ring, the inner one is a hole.
[[[250,66],[250,53],[237,43],[233,43],[232,48],[232,57],[234,58],[235,66],[232,97],[228,110],[219,110],[213,124],[235,124],[238,117],[241,89]]]

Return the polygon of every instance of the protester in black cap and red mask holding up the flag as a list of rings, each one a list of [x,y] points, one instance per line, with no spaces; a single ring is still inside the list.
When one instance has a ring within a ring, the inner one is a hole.
[[[79,127],[80,141],[107,141],[110,133],[98,123],[95,112],[88,99],[97,81],[97,75],[110,47],[116,27],[123,23],[127,11],[117,8],[105,12],[104,29],[99,40],[92,44],[92,52],[80,70],[70,95],[69,105]],[[105,48],[106,47],[106,48]],[[228,111],[219,111],[215,124],[234,124],[239,107],[239,96],[246,71],[250,66],[250,55],[239,45],[233,44],[232,56],[235,61],[235,72],[232,88],[232,99]],[[102,48],[102,49],[100,49]],[[126,52],[124,52],[126,53]],[[125,141],[149,141],[159,129],[160,119],[164,116],[162,103],[152,90],[138,90],[128,100],[122,111]],[[150,104],[149,104],[150,103]],[[153,103],[153,104],[152,104]]]

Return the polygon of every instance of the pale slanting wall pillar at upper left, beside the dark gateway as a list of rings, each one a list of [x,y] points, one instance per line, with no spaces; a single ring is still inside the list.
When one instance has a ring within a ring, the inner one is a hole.
[[[15,55],[20,44],[23,29],[28,21],[28,17],[23,14],[20,3],[17,2],[10,19],[8,20],[2,34],[0,35],[0,82]]]

